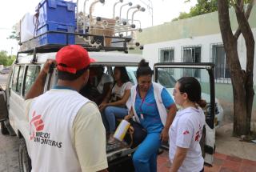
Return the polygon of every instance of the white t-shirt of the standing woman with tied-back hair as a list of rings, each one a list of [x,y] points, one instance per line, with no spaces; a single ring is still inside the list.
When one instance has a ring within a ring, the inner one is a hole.
[[[173,163],[174,155],[178,147],[188,148],[186,158],[179,168],[179,172],[198,172],[203,168],[200,139],[205,125],[205,114],[201,108],[188,107],[179,110],[170,126],[170,150],[169,158]]]

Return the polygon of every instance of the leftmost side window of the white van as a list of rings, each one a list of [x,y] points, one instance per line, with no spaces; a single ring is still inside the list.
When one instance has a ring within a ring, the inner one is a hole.
[[[18,94],[21,94],[21,90],[22,90],[23,73],[24,73],[24,66],[15,66],[14,77],[12,80],[12,90],[14,90]]]

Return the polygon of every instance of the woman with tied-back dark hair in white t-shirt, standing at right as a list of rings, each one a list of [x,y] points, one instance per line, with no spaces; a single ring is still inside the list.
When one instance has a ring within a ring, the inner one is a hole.
[[[182,106],[169,130],[171,172],[202,172],[204,160],[199,145],[205,114],[201,86],[196,78],[183,77],[174,87],[174,100]]]

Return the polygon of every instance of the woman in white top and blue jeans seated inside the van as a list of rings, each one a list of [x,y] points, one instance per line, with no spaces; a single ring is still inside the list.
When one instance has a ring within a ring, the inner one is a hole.
[[[116,126],[115,118],[124,118],[128,114],[126,108],[126,102],[130,97],[130,88],[132,83],[127,74],[125,67],[114,68],[114,87],[106,96],[102,104],[99,106],[103,111],[103,123],[106,126],[106,130],[109,128],[110,138],[109,144],[114,143],[114,130]],[[106,122],[104,122],[106,120]]]

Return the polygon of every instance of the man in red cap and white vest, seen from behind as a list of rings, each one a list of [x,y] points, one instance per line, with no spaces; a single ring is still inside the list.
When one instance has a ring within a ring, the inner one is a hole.
[[[58,83],[43,94],[47,60],[26,94],[32,172],[107,171],[106,134],[98,106],[78,94],[89,78],[92,59],[82,46],[56,54]]]

